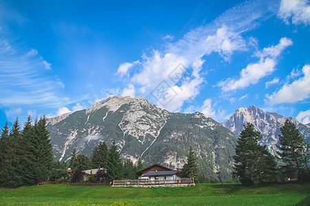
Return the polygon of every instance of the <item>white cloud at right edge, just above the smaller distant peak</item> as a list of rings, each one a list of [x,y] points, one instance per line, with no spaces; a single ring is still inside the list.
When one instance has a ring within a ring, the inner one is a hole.
[[[275,91],[272,95],[267,95],[266,102],[269,104],[293,103],[306,100],[310,97],[310,65],[304,65],[302,68],[303,77],[292,82],[285,83],[279,91]]]

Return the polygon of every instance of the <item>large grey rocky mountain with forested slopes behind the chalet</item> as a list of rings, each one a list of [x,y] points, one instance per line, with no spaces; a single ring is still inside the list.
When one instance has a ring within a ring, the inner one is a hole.
[[[48,119],[56,160],[67,161],[76,149],[90,156],[99,141],[116,141],[123,159],[145,165],[161,163],[174,169],[186,162],[189,146],[209,179],[231,179],[238,138],[202,113],[169,113],[143,97],[112,96],[90,108]]]

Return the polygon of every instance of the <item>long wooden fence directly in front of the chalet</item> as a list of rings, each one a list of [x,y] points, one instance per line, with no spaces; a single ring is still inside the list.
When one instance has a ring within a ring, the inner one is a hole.
[[[114,186],[130,186],[130,185],[171,185],[171,184],[192,184],[194,179],[191,178],[181,178],[178,180],[145,180],[145,179],[135,179],[135,180],[114,180]]]

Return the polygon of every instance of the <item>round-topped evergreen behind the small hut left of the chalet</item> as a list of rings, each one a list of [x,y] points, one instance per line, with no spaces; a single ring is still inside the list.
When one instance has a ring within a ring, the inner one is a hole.
[[[104,141],[99,142],[99,144],[92,150],[92,168],[103,168],[105,165],[105,158],[107,156],[107,145]]]

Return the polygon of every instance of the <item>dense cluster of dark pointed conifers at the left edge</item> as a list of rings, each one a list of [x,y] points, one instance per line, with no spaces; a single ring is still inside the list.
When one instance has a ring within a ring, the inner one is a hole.
[[[54,156],[50,144],[45,116],[19,126],[14,122],[9,130],[8,122],[1,129],[0,138],[0,186],[19,187],[45,181],[50,175]]]

